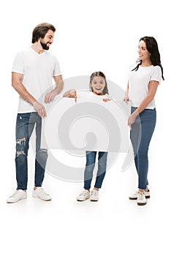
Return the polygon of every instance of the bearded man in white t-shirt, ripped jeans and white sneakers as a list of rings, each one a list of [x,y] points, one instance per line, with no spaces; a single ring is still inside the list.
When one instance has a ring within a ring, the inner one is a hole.
[[[34,28],[32,45],[15,56],[12,67],[12,86],[20,95],[18,116],[16,121],[16,179],[17,190],[7,199],[7,203],[15,203],[26,199],[28,179],[28,145],[36,126],[36,157],[33,197],[51,200],[42,189],[47,162],[47,149],[40,148],[42,118],[47,116],[43,102],[51,102],[63,89],[63,79],[58,61],[53,54],[47,52],[53,43],[56,28],[49,23],[41,23]],[[56,86],[52,88],[53,78]],[[45,97],[42,95],[45,94]]]

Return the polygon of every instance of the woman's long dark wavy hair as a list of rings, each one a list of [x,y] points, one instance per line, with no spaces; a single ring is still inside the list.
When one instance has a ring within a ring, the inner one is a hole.
[[[164,80],[163,67],[161,66],[160,53],[159,53],[159,48],[158,48],[156,39],[154,37],[141,37],[140,41],[144,41],[145,42],[145,45],[146,45],[146,48],[147,48],[148,52],[151,53],[151,57],[150,57],[151,64],[153,66],[161,67],[161,77]],[[132,71],[133,70],[137,71],[137,69],[140,67],[140,64],[142,64],[142,61],[140,61],[137,64],[137,66],[134,69],[132,69]]]

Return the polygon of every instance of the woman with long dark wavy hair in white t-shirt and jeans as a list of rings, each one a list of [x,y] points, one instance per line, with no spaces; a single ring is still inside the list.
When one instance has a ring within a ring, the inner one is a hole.
[[[129,197],[144,206],[150,197],[148,189],[148,146],[156,125],[156,106],[154,97],[163,68],[156,39],[142,37],[138,45],[139,63],[132,69],[126,89],[125,101],[132,101],[132,114],[128,125],[134,150],[134,163],[138,175],[138,191]]]

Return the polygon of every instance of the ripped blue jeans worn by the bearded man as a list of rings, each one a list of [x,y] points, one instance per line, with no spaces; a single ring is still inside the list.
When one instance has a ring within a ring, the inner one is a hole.
[[[28,181],[28,147],[31,134],[36,124],[36,156],[34,186],[42,187],[47,162],[47,149],[40,148],[42,118],[37,112],[18,113],[16,121],[16,179],[17,189],[27,189]]]

